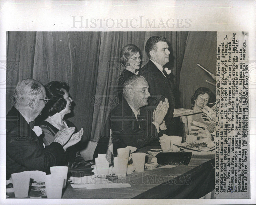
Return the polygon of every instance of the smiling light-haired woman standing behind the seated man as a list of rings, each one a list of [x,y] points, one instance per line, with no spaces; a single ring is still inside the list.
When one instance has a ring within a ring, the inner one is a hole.
[[[123,85],[125,81],[138,74],[141,63],[141,51],[133,44],[128,44],[122,48],[120,53],[120,63],[124,70],[122,71],[118,81],[118,97],[119,100],[123,99]]]

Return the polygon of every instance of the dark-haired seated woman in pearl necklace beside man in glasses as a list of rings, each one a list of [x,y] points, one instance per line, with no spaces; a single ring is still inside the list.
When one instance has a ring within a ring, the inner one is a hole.
[[[64,119],[64,116],[71,112],[71,102],[73,101],[69,95],[69,86],[66,83],[52,81],[45,85],[45,90],[49,101],[42,110],[46,119],[40,123],[40,127],[43,131],[43,142],[45,145],[49,145],[54,141],[54,136],[59,130],[75,126],[72,122]],[[74,133],[77,132],[76,128]],[[83,134],[83,128],[79,132]],[[75,144],[65,151],[63,165],[69,167],[86,165],[78,151],[78,146],[79,144]]]

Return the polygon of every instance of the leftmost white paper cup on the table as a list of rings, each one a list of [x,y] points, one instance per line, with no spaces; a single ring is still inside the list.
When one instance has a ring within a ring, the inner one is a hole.
[[[28,196],[28,188],[30,181],[29,171],[12,174],[14,195],[16,198],[24,198]]]

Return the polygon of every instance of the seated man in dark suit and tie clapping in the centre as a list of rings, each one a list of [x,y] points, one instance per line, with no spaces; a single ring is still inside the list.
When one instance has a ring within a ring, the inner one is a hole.
[[[160,128],[164,129],[164,116],[169,108],[168,100],[159,102],[152,114],[145,109],[148,92],[148,83],[142,76],[132,76],[124,84],[124,99],[109,114],[105,123],[94,156],[105,154],[108,148],[110,129],[112,130],[112,143],[114,155],[118,148],[127,145],[141,148],[151,144],[159,145],[158,135],[161,136]]]

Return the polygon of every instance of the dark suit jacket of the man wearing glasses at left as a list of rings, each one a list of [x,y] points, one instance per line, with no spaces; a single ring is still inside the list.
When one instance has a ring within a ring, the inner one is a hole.
[[[6,179],[12,173],[39,170],[50,173],[51,166],[60,165],[64,150],[52,142],[44,148],[24,117],[15,107],[6,115]]]

